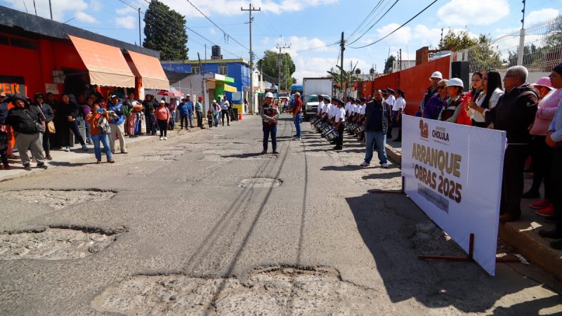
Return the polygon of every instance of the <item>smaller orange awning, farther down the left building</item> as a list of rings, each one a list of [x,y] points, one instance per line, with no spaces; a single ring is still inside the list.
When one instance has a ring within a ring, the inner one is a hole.
[[[170,81],[166,77],[158,58],[129,51],[133,60],[131,70],[143,78],[143,88],[155,90],[170,90]]]

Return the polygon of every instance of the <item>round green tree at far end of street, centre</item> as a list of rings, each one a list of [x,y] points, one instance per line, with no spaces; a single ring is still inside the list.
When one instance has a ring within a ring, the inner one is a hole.
[[[279,64],[280,62],[280,64]],[[263,58],[258,61],[258,67],[263,72],[264,76],[269,80],[273,80],[275,84],[279,81],[279,67],[281,65],[281,86],[280,90],[290,90],[294,82],[292,74],[294,74],[296,67],[293,58],[288,53],[277,53],[275,51],[265,51]],[[295,81],[296,82],[296,81]],[[287,85],[288,83],[288,85]]]

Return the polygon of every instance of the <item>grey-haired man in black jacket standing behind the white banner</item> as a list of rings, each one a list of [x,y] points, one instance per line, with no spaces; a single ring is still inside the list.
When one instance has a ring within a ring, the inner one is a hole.
[[[521,216],[523,170],[529,154],[529,129],[535,120],[538,91],[526,84],[528,70],[514,66],[504,77],[505,93],[496,107],[486,113],[488,128],[507,131],[507,149],[504,154],[504,178],[499,220],[510,222]]]

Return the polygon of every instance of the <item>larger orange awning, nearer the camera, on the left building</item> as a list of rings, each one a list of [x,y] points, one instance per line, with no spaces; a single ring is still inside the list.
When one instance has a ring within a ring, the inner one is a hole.
[[[135,76],[127,65],[120,48],[72,35],[68,37],[88,69],[90,84],[135,87]]]

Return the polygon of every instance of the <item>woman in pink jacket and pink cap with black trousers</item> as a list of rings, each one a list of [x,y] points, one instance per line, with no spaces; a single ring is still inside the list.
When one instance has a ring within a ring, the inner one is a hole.
[[[548,77],[541,78],[533,84],[542,97],[539,101],[539,109],[535,116],[535,122],[530,130],[531,134],[531,162],[532,162],[532,186],[528,192],[523,194],[524,198],[532,199],[540,197],[539,188],[544,180],[544,199],[530,204],[532,209],[537,209],[535,213],[540,216],[551,216],[554,214],[554,207],[551,204],[553,194],[551,187],[551,161],[552,148],[544,142],[547,137],[549,125],[556,114],[558,103],[560,102],[560,89],[551,86]]]

